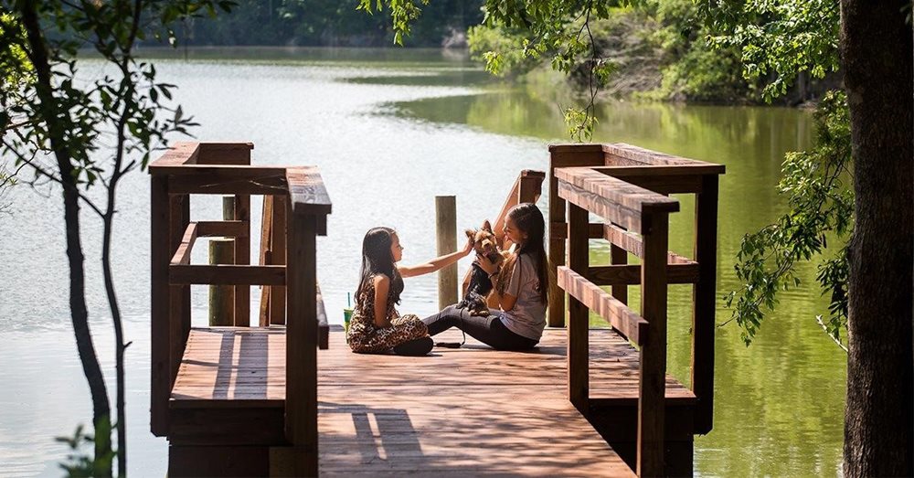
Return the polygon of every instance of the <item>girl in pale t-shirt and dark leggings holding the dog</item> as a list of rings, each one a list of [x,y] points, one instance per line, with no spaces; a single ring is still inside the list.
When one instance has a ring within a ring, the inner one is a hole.
[[[525,350],[539,343],[546,328],[548,301],[548,260],[544,249],[543,214],[530,203],[508,210],[505,236],[515,244],[498,270],[483,256],[476,261],[489,274],[498,309],[488,316],[470,315],[469,309],[451,305],[440,313],[422,319],[430,335],[457,327],[476,340],[499,350]]]

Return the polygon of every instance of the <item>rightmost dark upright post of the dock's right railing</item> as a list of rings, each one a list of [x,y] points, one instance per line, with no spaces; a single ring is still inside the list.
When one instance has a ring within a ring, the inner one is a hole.
[[[702,178],[695,201],[695,260],[698,282],[692,288],[692,391],[697,399],[696,433],[707,433],[714,419],[714,331],[717,299],[717,175]]]

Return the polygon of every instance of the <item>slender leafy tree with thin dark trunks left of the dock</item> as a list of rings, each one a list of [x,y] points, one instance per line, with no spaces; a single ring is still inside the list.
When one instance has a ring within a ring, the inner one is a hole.
[[[35,173],[33,181],[43,178],[63,187],[70,313],[93,405],[93,475],[112,474],[111,405],[87,324],[76,205],[81,200],[104,226],[101,262],[117,347],[118,474],[124,475],[123,351],[129,344],[123,340],[110,260],[115,191],[122,176],[145,166],[168,135],[186,134],[196,124],[171,103],[174,85],[157,81],[154,66],[137,60],[134,48],[143,40],[174,46],[175,22],[215,15],[231,5],[225,0],[0,2],[0,62],[16,63],[21,72],[5,74],[0,84],[0,155],[14,158],[19,168],[28,166]],[[80,48],[92,48],[103,60],[101,78],[78,76]],[[98,183],[107,190],[104,207],[85,195]],[[84,441],[78,430],[71,448]],[[86,472],[86,462],[74,461],[71,474]]]

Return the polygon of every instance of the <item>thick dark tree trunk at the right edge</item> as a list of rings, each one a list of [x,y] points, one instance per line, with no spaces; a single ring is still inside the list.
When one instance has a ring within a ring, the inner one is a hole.
[[[914,474],[914,53],[903,12],[908,3],[841,2],[856,195],[845,406],[849,477]]]

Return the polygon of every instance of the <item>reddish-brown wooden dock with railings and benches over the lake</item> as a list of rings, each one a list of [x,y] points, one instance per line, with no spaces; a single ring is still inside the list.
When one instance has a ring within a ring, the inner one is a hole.
[[[692,473],[693,437],[713,419],[723,166],[622,143],[550,146],[549,174],[522,172],[495,220],[536,203],[548,177],[554,328],[537,349],[471,341],[425,357],[370,356],[327,325],[315,239],[332,203],[319,170],[252,166],[252,148],[177,143],[149,166],[150,428],[169,441],[169,476]],[[191,221],[191,197],[212,194],[233,197],[233,217]],[[696,196],[691,259],[668,250],[671,194]],[[264,197],[258,265],[251,196]],[[230,238],[234,263],[192,264],[207,237]],[[590,263],[589,239],[610,243],[609,265]],[[192,328],[191,284],[234,288],[234,326]],[[666,374],[669,284],[694,287],[690,388]],[[630,286],[641,289],[638,310]],[[591,312],[611,329],[590,329]]]

